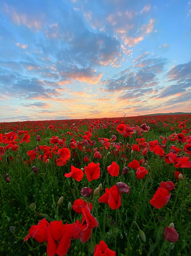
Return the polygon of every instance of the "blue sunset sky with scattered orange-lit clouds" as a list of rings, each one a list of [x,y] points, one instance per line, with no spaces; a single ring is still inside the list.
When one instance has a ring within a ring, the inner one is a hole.
[[[191,2],[0,2],[0,122],[191,112]]]

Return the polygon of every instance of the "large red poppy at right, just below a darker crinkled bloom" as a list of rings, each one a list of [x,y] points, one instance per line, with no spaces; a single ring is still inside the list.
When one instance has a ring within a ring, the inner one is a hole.
[[[170,194],[167,189],[159,187],[153,198],[150,200],[150,204],[157,209],[161,209],[170,199]]]

